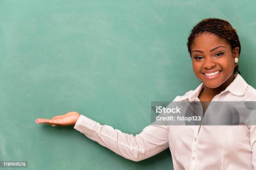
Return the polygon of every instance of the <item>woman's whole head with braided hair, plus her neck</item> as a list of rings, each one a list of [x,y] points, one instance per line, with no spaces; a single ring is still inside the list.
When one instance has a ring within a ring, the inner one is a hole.
[[[209,18],[191,31],[187,42],[195,75],[204,83],[201,101],[225,90],[235,79],[241,45],[236,30],[228,21]],[[236,61],[235,61],[236,60]]]

